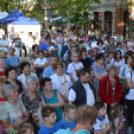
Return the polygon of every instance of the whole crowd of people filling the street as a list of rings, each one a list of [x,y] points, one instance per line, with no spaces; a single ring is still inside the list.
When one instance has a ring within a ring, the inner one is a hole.
[[[132,133],[132,39],[57,28],[22,61],[19,34],[1,37],[0,134]]]

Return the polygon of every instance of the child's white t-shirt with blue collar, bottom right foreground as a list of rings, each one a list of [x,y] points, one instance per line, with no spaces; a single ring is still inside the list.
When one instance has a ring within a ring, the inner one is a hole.
[[[107,115],[103,116],[103,118],[100,118],[99,116],[97,116],[96,124],[94,125],[94,130],[95,131],[102,130],[102,129],[106,128],[106,125],[109,123],[110,122],[108,120]]]

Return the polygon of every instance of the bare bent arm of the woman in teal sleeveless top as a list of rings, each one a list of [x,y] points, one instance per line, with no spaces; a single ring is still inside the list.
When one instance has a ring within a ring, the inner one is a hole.
[[[51,107],[57,107],[57,108],[63,107],[65,105],[65,102],[64,102],[61,94],[59,93],[59,91],[57,91],[57,98],[59,101],[58,103],[49,103],[48,105]]]

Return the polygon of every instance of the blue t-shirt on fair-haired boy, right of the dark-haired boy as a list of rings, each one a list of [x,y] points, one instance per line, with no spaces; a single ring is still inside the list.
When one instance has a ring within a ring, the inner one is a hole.
[[[68,121],[66,121],[65,119],[61,120],[61,121],[59,122],[59,124],[60,124],[61,127],[64,128],[64,129],[66,129],[66,128],[71,128],[71,129],[73,129],[73,128],[75,128],[75,126],[76,126],[76,122],[75,122],[75,121],[68,122]]]

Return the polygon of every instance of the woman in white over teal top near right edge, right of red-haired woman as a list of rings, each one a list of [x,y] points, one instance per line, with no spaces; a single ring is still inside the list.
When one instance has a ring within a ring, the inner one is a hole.
[[[131,72],[132,70],[132,67],[131,67],[132,60],[133,60],[133,57],[131,55],[128,55],[126,57],[126,64],[121,66],[120,68],[119,78],[120,78],[121,84],[126,80],[127,73]]]

